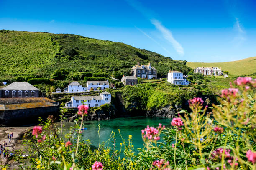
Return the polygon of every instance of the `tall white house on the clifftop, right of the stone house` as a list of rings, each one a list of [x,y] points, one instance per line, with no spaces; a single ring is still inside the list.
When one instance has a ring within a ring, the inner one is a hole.
[[[179,71],[169,71],[167,81],[174,85],[189,85],[190,82],[183,77],[183,73]]]

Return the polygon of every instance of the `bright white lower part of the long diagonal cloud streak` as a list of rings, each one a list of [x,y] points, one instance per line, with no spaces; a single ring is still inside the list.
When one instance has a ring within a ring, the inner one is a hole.
[[[168,30],[167,28],[165,28],[161,22],[159,22],[159,20],[156,19],[151,19],[150,20],[152,24],[155,25],[155,27],[161,32],[161,34],[164,36],[164,38],[169,41],[172,46],[174,47],[174,49],[177,51],[177,53],[179,55],[184,55],[184,49],[183,47],[179,44],[179,42],[177,42],[177,40],[174,39],[174,37],[172,36],[172,32],[170,30]]]

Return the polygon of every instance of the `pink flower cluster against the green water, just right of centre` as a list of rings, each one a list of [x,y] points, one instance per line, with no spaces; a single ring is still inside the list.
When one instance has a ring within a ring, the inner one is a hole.
[[[159,140],[160,136],[159,136],[159,130],[163,130],[165,128],[165,126],[162,127],[162,124],[159,124],[158,128],[154,128],[154,127],[149,127],[147,126],[147,128],[141,130],[141,134],[143,135],[144,139],[147,140]]]

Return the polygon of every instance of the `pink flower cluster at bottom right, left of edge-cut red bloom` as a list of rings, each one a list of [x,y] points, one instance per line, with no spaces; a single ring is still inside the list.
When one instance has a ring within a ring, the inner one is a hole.
[[[222,153],[223,152],[224,152],[224,157],[225,157],[224,159],[227,160],[227,162],[229,163],[230,166],[232,166],[234,158],[233,158],[233,156],[230,155],[230,150],[229,149],[218,148],[217,150],[212,152],[212,154],[211,154],[212,156],[210,157],[210,159],[213,160],[213,161],[216,161],[216,162],[220,161],[221,158],[222,158]],[[235,160],[235,166],[238,165],[238,163],[236,161],[238,161],[237,158]],[[225,167],[223,167],[223,168],[225,168]]]

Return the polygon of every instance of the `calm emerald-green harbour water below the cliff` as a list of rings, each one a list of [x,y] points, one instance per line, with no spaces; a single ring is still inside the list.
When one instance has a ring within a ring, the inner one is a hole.
[[[100,121],[86,121],[84,122],[83,138],[85,140],[90,139],[92,142],[92,147],[97,147],[99,144],[98,136],[98,124],[100,124],[100,143],[102,141],[107,141],[110,137],[111,132],[115,132],[115,139],[118,147],[122,142],[118,129],[123,138],[128,139],[129,135],[133,136],[133,145],[134,148],[142,148],[143,140],[141,139],[141,130],[146,128],[147,125],[157,127],[159,123],[165,125],[166,127],[171,126],[170,118],[164,117],[122,117],[111,120],[100,120]],[[73,126],[73,122],[65,122],[65,129],[69,129],[70,126]],[[110,146],[111,143],[110,143]]]

